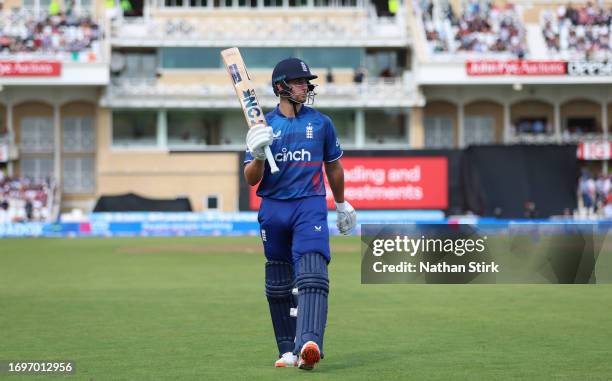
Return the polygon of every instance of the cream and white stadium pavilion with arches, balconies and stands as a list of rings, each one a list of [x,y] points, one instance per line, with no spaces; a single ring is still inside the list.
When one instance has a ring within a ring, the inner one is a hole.
[[[229,46],[265,109],[273,65],[307,61],[346,150],[607,144],[610,5],[598,19],[573,4],[9,0],[0,165],[53,178],[66,210],[126,192],[237,210],[246,127]]]

